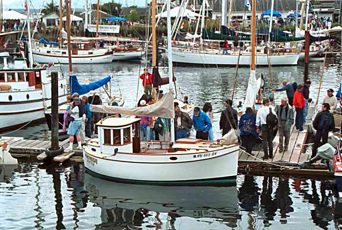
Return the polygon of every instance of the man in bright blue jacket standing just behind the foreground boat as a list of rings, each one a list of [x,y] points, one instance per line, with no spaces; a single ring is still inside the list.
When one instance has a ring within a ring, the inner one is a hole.
[[[193,127],[196,130],[196,139],[208,140],[208,132],[212,127],[209,116],[195,107],[192,115]]]

